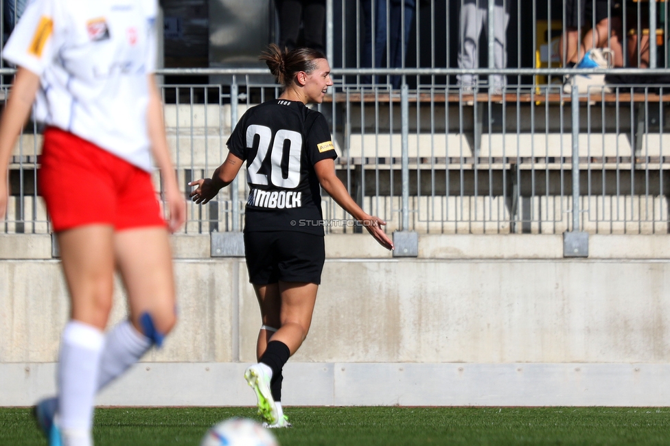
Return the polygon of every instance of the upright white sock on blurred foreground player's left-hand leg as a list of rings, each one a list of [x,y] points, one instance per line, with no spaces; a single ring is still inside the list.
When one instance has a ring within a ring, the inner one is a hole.
[[[68,322],[63,330],[58,361],[58,412],[63,430],[89,432],[86,436],[90,436],[103,343],[102,330],[77,320]]]

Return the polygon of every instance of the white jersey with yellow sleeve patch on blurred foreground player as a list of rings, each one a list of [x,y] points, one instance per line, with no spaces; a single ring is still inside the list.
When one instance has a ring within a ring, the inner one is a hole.
[[[3,57],[41,78],[34,119],[150,171],[157,0],[32,0]]]

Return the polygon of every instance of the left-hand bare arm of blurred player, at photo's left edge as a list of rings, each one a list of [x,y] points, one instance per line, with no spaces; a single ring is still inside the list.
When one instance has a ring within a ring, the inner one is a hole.
[[[30,115],[35,100],[40,77],[25,68],[19,67],[12,84],[10,97],[0,118],[0,219],[7,211],[8,185],[7,167],[12,148],[19,137],[21,128]]]

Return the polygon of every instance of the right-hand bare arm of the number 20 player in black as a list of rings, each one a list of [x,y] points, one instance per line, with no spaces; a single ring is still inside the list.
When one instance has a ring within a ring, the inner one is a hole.
[[[340,178],[337,178],[335,174],[335,162],[332,159],[325,159],[316,163],[314,165],[314,172],[316,172],[316,178],[319,178],[321,187],[340,207],[350,213],[358,222],[361,222],[380,245],[386,249],[394,248],[393,242],[391,242],[389,236],[382,229],[382,226],[386,222],[360,209],[360,206],[356,204],[354,199],[349,195],[349,192],[347,192],[347,188],[342,184]]]

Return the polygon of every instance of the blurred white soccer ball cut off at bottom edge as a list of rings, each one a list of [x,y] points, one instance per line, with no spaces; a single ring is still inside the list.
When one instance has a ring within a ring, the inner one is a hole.
[[[231,418],[213,425],[200,446],[279,446],[277,439],[259,423],[246,418]]]

